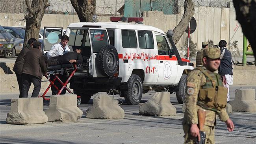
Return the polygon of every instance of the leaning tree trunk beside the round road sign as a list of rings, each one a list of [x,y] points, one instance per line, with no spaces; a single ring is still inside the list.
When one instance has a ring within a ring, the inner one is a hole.
[[[184,2],[184,14],[179,24],[174,28],[173,32],[173,42],[176,44],[182,37],[184,31],[186,30],[192,16],[195,13],[195,5],[193,0],[185,0]]]

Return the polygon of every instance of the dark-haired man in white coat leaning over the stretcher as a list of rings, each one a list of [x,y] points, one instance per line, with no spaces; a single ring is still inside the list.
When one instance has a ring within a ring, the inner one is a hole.
[[[58,55],[63,55],[70,52],[68,42],[69,42],[69,37],[67,35],[63,35],[61,37],[61,42],[59,42],[58,44],[54,44],[52,48],[47,52],[46,54],[47,58],[50,59],[51,57],[56,57]],[[62,75],[60,74],[58,77],[59,79],[61,79],[63,83],[67,81],[67,76],[65,72]],[[50,79],[54,79],[54,76],[50,76]],[[54,84],[58,87],[59,90],[61,89],[62,85],[61,83],[59,83],[58,80],[56,80]],[[52,90],[52,96],[58,94],[58,90],[56,90],[53,86],[51,87],[51,90]],[[65,93],[66,93],[66,89],[63,89],[60,94],[65,94]]]

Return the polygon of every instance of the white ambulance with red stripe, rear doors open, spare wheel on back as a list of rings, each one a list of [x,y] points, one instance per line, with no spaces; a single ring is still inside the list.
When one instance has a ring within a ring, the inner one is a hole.
[[[67,28],[69,46],[82,48],[82,55],[89,59],[70,81],[74,93],[88,102],[96,92],[112,89],[124,96],[126,103],[137,105],[149,90],[169,90],[183,103],[187,72],[194,68],[188,59],[180,57],[173,31],[165,35],[158,28],[141,24],[143,18],[110,20],[113,22],[71,23]],[[45,31],[49,29],[53,28]],[[56,28],[45,37],[45,51],[60,41],[60,31]]]

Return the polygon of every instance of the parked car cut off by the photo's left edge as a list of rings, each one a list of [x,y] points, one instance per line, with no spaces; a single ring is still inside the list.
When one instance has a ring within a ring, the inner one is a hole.
[[[14,46],[13,39],[11,34],[8,33],[1,25],[0,25],[0,50],[5,54],[6,51],[12,50]],[[4,55],[6,56],[6,55]]]

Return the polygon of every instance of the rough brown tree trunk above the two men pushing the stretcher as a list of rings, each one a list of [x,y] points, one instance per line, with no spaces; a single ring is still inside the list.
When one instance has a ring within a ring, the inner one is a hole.
[[[48,4],[48,0],[33,0],[31,4],[30,0],[26,0],[26,5],[28,13],[25,15],[26,31],[24,46],[30,38],[38,39],[45,9],[46,7],[50,6],[50,4]]]

